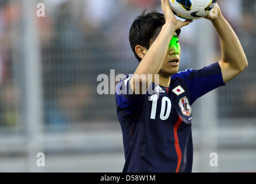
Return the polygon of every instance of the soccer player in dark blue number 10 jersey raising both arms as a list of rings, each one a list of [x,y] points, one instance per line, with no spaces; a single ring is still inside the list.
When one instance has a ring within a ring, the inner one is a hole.
[[[180,28],[192,21],[176,20],[168,0],[161,0],[161,7],[164,14],[143,13],[131,25],[131,49],[140,64],[116,87],[126,161],[123,172],[191,172],[191,105],[248,66],[238,37],[216,4],[205,18],[219,34],[221,60],[201,70],[178,72]],[[159,74],[159,83],[149,74]],[[148,93],[149,89],[157,93]]]

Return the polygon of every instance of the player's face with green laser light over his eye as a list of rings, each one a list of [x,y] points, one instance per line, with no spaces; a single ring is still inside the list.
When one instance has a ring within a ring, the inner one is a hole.
[[[179,37],[175,33],[170,41],[168,51],[166,53],[163,66],[160,69],[160,74],[173,75],[179,71],[180,62],[180,45]]]

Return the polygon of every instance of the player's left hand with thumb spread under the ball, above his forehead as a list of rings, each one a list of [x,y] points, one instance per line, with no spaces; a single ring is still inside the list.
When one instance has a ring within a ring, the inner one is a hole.
[[[161,0],[161,7],[162,10],[164,11],[165,24],[173,24],[176,29],[180,29],[183,26],[189,25],[191,22],[193,22],[192,20],[176,20],[168,0]]]

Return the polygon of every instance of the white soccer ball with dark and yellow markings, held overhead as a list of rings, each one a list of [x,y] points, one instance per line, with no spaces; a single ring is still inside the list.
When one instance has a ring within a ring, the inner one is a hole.
[[[189,20],[205,17],[216,2],[217,0],[169,0],[174,14]]]

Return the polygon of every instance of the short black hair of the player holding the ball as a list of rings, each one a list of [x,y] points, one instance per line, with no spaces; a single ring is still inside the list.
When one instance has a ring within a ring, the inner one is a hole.
[[[135,18],[129,33],[131,49],[139,62],[141,58],[135,52],[136,45],[149,49],[149,41],[154,36],[156,29],[165,24],[164,14],[156,11],[148,14],[145,12],[146,10],[142,12],[141,16]],[[180,29],[176,30],[176,34],[179,36]]]

